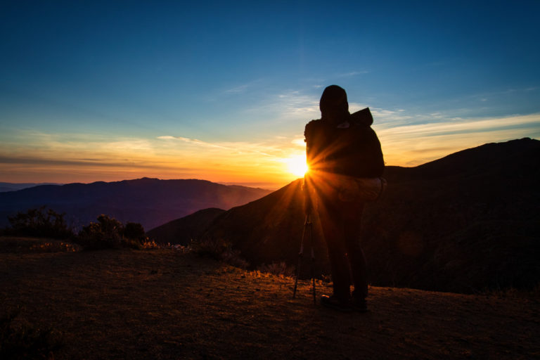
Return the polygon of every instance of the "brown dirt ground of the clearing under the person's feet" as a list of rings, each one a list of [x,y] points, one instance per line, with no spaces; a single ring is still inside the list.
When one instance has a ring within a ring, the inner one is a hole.
[[[0,238],[0,311],[58,330],[55,359],[540,359],[538,299],[373,287],[344,314],[175,250],[44,243]]]

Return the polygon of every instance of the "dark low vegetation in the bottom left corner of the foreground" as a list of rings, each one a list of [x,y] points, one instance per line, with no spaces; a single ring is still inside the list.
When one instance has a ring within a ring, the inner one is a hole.
[[[51,328],[15,325],[17,315],[0,317],[0,359],[54,359],[53,352],[62,347],[59,335]]]

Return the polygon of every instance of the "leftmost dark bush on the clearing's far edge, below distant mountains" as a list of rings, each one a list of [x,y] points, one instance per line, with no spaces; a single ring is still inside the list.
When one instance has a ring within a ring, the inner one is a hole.
[[[18,212],[13,217],[8,217],[8,221],[11,228],[4,230],[6,235],[57,239],[75,236],[65,221],[65,213],[59,214],[45,206]]]

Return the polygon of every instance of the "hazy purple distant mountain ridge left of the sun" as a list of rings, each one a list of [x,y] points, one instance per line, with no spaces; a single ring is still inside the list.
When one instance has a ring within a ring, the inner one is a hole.
[[[230,209],[271,191],[221,185],[205,180],[136,179],[92,184],[41,185],[0,193],[0,226],[7,217],[32,207],[65,212],[68,221],[84,226],[107,214],[120,221],[139,222],[145,229],[165,224],[208,207]]]

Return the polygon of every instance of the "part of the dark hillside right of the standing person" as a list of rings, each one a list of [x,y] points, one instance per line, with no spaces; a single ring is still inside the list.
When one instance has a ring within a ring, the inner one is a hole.
[[[460,292],[534,287],[539,165],[540,141],[521,139],[389,167],[385,198],[364,218],[373,281]]]

